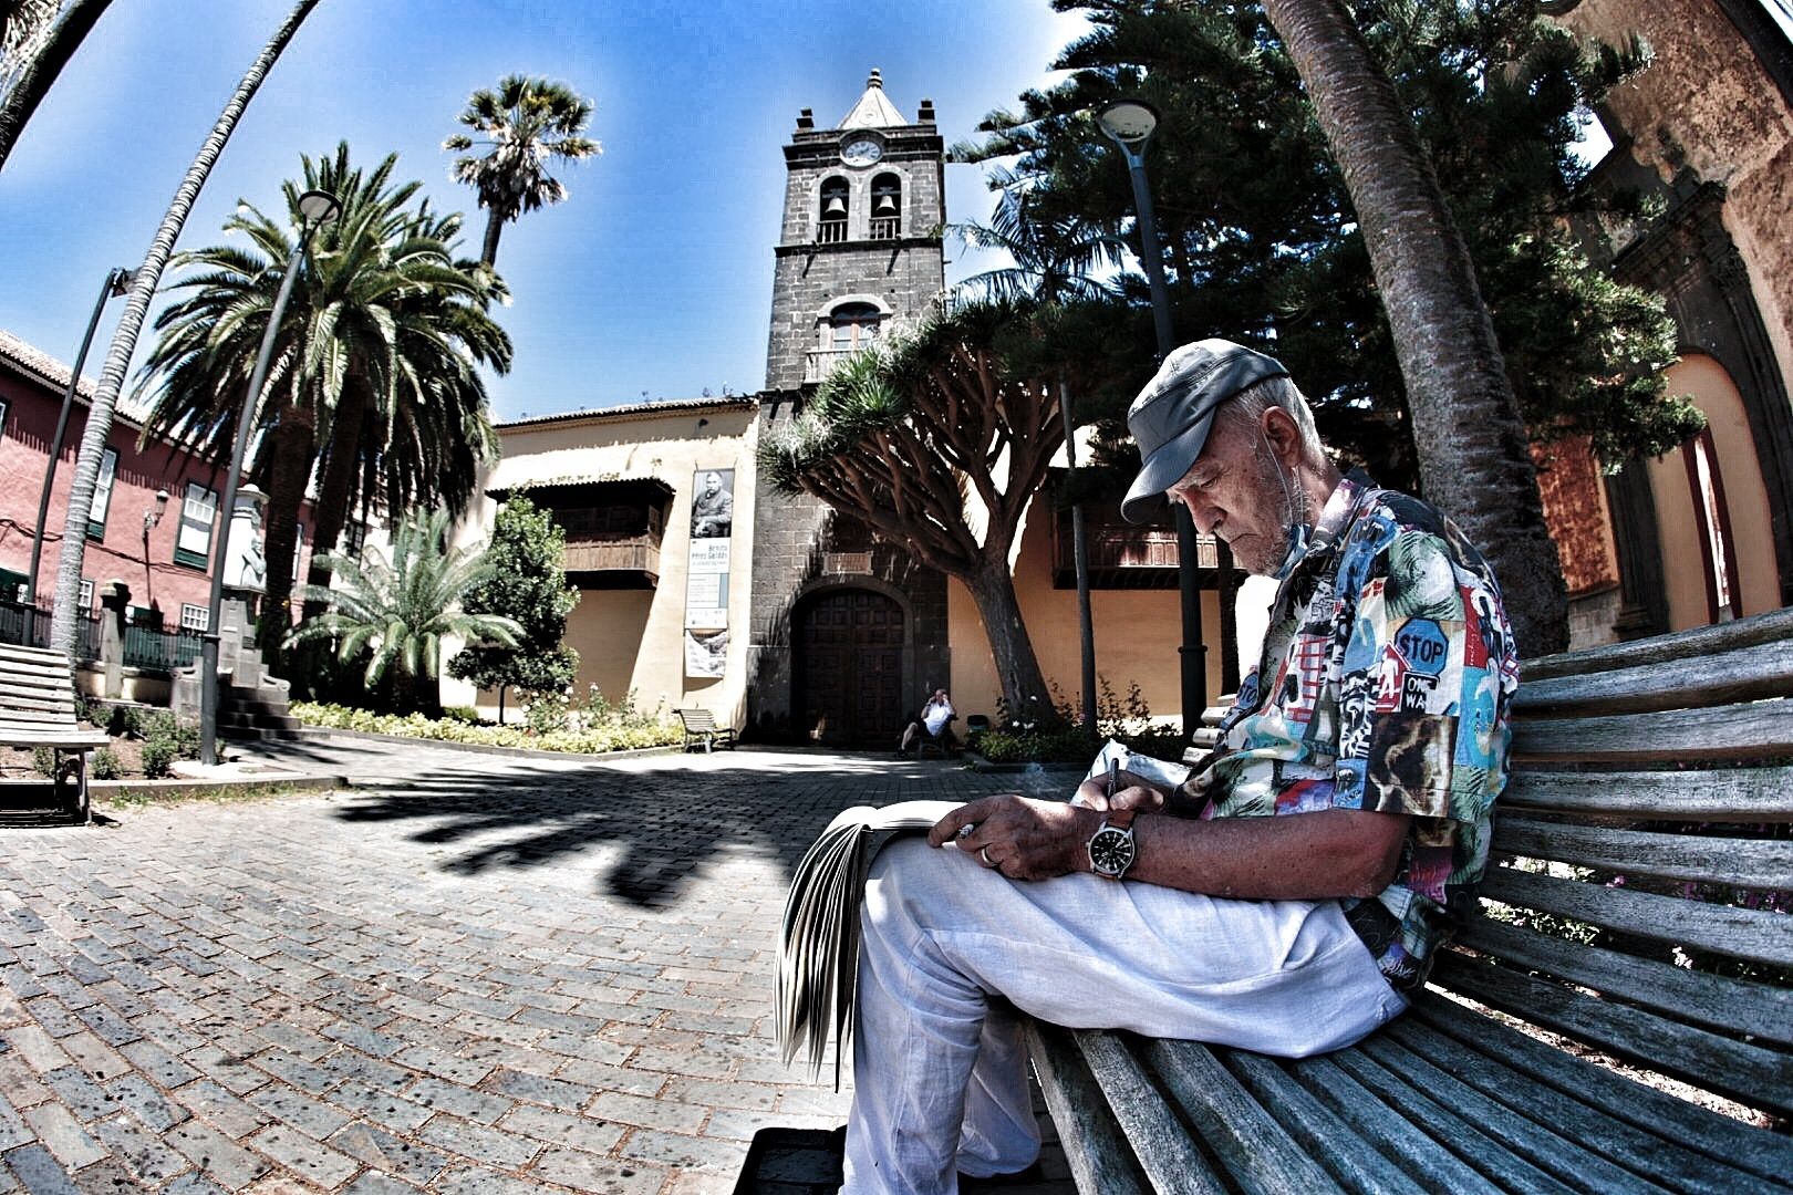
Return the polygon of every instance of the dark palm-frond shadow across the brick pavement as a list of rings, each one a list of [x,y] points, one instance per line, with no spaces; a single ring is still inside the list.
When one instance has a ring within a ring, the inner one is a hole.
[[[706,761],[645,770],[518,763],[506,772],[420,776],[403,788],[344,803],[337,817],[364,824],[414,821],[412,842],[459,846],[436,865],[461,876],[602,851],[604,892],[663,908],[706,865],[739,849],[775,858],[789,881],[823,826],[852,804],[963,801],[1015,790],[1017,779],[927,765],[873,767],[837,754],[793,754],[778,770],[767,769],[764,756],[741,767]]]

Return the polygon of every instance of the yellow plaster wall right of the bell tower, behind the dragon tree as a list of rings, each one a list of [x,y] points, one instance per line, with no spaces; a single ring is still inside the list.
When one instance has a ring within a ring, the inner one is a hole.
[[[1051,514],[1029,512],[1015,561],[1015,589],[1022,618],[1047,684],[1072,706],[1081,701],[1083,663],[1078,629],[1078,591],[1052,588]],[[1219,597],[1203,593],[1201,629],[1208,643],[1208,699],[1221,692]],[[947,586],[947,618],[952,636],[952,702],[961,717],[970,713],[997,717],[995,661],[977,604],[957,580]],[[1096,674],[1110,683],[1117,697],[1139,681],[1140,695],[1155,718],[1182,717],[1178,641],[1182,607],[1176,589],[1096,589],[1090,593],[1090,622],[1096,632]]]

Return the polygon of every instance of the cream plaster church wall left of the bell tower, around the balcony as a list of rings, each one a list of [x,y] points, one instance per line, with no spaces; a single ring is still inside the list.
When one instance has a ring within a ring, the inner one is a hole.
[[[741,726],[746,717],[748,598],[751,593],[757,448],[755,405],[672,408],[628,414],[592,412],[498,428],[502,459],[482,491],[525,484],[656,477],[672,487],[660,541],[656,589],[588,589],[567,625],[579,650],[579,688],[597,683],[611,699],[635,690],[653,708],[703,706]],[[699,421],[703,421],[699,425]],[[719,679],[685,675],[685,566],[690,550],[692,484],[699,469],[735,471],[735,521],[730,539],[728,658]],[[455,543],[489,537],[497,502],[482,498],[455,532]],[[475,701],[477,697],[477,701]],[[475,704],[497,717],[497,693],[443,677],[443,702]]]

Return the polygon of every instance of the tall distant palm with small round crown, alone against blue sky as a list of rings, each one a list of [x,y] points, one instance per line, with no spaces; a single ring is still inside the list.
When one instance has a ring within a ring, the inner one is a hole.
[[[550,161],[583,161],[604,152],[579,136],[592,120],[592,100],[549,79],[506,75],[497,91],[479,90],[468,99],[461,124],[481,134],[484,156],[455,158],[454,177],[479,192],[486,208],[486,245],[481,262],[498,260],[498,233],[524,211],[567,199],[567,186],[550,177]],[[475,140],[455,133],[443,149],[464,154]]]

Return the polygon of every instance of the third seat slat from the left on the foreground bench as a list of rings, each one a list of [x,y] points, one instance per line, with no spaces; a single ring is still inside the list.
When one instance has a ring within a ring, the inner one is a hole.
[[[1212,1050],[1196,1041],[1153,1039],[1146,1059],[1241,1188],[1253,1195],[1343,1191]]]

